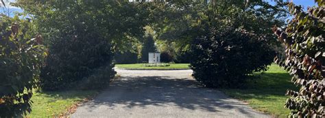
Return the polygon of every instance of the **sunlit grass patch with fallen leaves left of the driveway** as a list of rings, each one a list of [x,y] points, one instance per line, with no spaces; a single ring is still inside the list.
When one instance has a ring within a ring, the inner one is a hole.
[[[36,92],[32,97],[32,112],[26,117],[58,117],[73,104],[96,93],[97,91]]]

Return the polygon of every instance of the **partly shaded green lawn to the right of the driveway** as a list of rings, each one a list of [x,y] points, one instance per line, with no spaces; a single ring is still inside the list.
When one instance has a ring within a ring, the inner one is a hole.
[[[298,90],[291,83],[291,76],[278,65],[272,64],[267,72],[256,74],[261,78],[254,78],[248,83],[247,89],[222,89],[233,98],[248,102],[252,108],[274,115],[287,117],[289,110],[284,108],[287,100],[287,89]]]

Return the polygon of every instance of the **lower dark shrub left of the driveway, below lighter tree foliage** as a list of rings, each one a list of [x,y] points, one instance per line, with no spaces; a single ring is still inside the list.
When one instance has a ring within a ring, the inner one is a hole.
[[[106,65],[111,68],[108,74],[115,75],[112,69],[114,66],[111,65],[113,53],[110,43],[99,36],[92,37],[95,33],[79,35],[80,37],[62,35],[53,42],[45,61],[47,65],[40,74],[40,87],[45,90],[70,88]],[[104,83],[109,80],[110,76],[107,76],[102,81]]]

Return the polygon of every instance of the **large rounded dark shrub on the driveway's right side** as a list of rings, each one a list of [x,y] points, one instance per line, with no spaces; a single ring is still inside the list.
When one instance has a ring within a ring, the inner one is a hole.
[[[194,78],[206,87],[241,87],[248,74],[266,70],[274,50],[253,33],[222,29],[196,38],[191,47]]]

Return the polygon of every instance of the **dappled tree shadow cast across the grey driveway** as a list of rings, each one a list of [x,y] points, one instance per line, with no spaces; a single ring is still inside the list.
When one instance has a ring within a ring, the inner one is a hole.
[[[216,89],[202,87],[190,78],[171,76],[122,76],[86,105],[89,112],[98,106],[108,106],[111,110],[162,106],[212,113],[236,110],[246,116],[252,113],[246,104]]]

